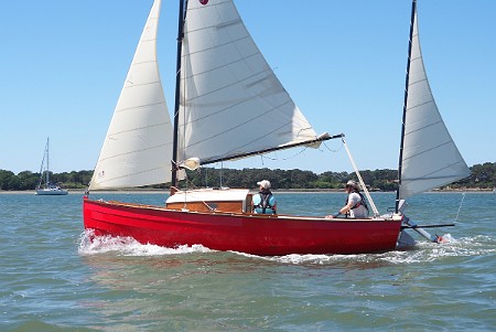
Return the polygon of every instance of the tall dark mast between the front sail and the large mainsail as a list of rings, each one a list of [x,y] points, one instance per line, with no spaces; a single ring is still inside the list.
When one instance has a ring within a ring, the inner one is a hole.
[[[185,6],[186,0],[180,0],[179,18],[177,18],[177,58],[175,66],[175,104],[174,104],[174,129],[173,129],[173,150],[172,150],[172,181],[171,186],[177,184],[177,141],[179,141],[179,109],[181,98],[181,56],[184,38],[184,19],[185,19]]]

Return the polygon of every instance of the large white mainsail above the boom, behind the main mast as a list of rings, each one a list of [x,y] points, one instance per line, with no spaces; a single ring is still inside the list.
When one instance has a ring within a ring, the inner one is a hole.
[[[187,2],[181,90],[179,160],[207,162],[316,138],[233,1]]]

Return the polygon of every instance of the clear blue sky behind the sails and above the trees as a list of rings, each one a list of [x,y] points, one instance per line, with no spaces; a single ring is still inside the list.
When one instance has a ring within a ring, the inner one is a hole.
[[[159,32],[170,108],[176,2],[163,0]],[[0,169],[37,172],[47,136],[54,172],[94,169],[151,4],[2,1]],[[315,130],[344,132],[359,169],[396,169],[411,2],[236,4]],[[468,165],[495,162],[496,1],[419,0],[418,11],[427,73],[453,139]],[[339,141],[224,167],[352,171]]]

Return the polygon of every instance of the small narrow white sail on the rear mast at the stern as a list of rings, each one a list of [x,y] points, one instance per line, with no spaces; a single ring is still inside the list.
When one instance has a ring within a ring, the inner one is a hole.
[[[470,175],[438,110],[420,50],[414,14],[400,197],[438,188]]]

